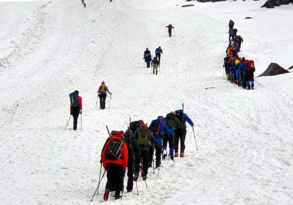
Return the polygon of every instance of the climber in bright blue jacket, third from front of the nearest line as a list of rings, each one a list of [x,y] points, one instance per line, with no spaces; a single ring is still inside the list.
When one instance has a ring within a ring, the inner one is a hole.
[[[153,120],[149,127],[149,131],[154,135],[156,141],[162,145],[163,143],[163,138],[164,138],[164,132],[167,133],[168,135],[173,134],[174,128],[168,128],[168,126],[164,122],[163,116],[158,116],[156,120]],[[159,149],[158,147],[155,148],[156,152],[156,168],[160,167],[161,164],[161,153],[162,150]]]

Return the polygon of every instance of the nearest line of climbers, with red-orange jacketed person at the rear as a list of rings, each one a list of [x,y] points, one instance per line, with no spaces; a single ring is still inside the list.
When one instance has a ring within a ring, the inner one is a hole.
[[[143,120],[139,120],[131,122],[125,132],[113,130],[103,146],[100,161],[107,171],[104,200],[108,200],[111,191],[115,192],[115,199],[121,199],[126,168],[127,192],[132,191],[133,181],[139,179],[140,169],[144,181],[147,179],[149,167],[153,166],[153,170],[160,170],[162,159],[165,160],[167,157],[167,143],[170,160],[179,156],[179,139],[180,157],[185,157],[186,122],[194,126],[188,115],[179,109],[168,113],[165,118],[158,116],[149,126]]]

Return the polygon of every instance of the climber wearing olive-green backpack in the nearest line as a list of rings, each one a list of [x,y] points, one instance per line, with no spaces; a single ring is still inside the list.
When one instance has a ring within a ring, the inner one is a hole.
[[[133,138],[137,141],[137,144],[141,150],[141,159],[135,158],[135,176],[134,181],[139,176],[139,163],[142,164],[142,177],[146,180],[147,169],[148,169],[148,151],[149,143],[154,143],[159,150],[162,150],[162,145],[158,143],[155,137],[149,132],[146,124],[140,124],[137,130],[133,133]]]

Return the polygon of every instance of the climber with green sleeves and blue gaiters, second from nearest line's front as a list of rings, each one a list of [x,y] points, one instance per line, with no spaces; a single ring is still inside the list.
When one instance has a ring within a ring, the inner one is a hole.
[[[177,127],[179,129],[184,129],[184,125],[180,122],[178,118],[176,118],[175,112],[170,112],[167,114],[167,116],[164,118],[165,124],[168,126],[168,128],[174,128],[175,130]],[[176,132],[176,131],[175,131]],[[164,138],[163,138],[163,159],[167,156],[167,143],[169,143],[169,156],[170,159],[173,160],[174,155],[174,134],[168,135],[164,132]]]

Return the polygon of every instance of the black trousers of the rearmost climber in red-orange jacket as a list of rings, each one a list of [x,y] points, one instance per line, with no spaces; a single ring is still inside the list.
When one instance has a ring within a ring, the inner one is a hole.
[[[115,197],[120,196],[123,184],[123,168],[122,164],[107,163],[107,183],[106,189],[115,191]]]

